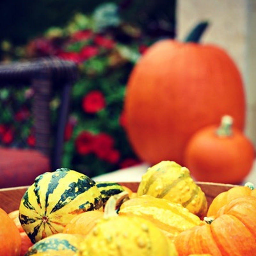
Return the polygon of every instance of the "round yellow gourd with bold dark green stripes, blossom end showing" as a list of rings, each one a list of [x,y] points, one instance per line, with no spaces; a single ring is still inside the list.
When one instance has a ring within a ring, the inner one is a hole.
[[[82,173],[60,168],[36,177],[21,199],[19,219],[35,243],[62,232],[77,214],[95,209],[103,210],[95,182]]]

